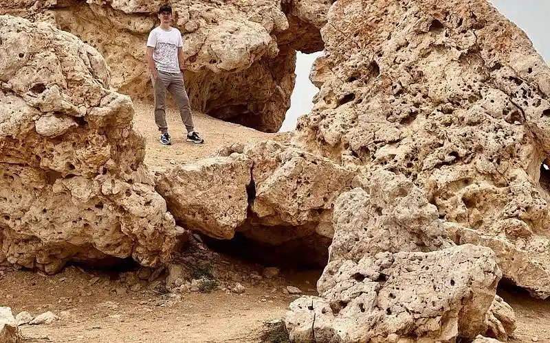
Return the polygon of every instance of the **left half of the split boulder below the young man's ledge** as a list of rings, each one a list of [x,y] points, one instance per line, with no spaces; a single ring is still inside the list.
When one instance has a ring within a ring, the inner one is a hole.
[[[187,228],[228,239],[246,219],[251,167],[246,158],[207,158],[161,174],[157,191]]]

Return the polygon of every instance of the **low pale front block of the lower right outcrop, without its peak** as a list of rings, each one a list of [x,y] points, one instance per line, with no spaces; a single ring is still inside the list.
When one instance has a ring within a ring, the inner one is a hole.
[[[471,245],[380,252],[357,263],[330,262],[325,274],[331,281],[320,286],[322,298],[290,305],[285,322],[293,342],[311,342],[312,335],[316,342],[474,338],[500,279],[494,253]]]

